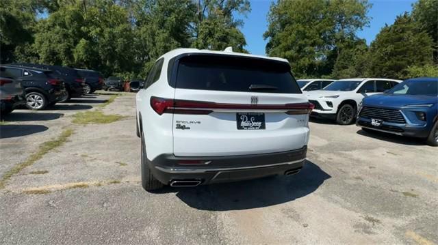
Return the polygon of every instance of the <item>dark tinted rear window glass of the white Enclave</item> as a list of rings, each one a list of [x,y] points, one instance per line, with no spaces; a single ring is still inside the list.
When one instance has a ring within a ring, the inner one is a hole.
[[[301,93],[289,64],[267,59],[192,55],[179,60],[176,87],[218,91]]]

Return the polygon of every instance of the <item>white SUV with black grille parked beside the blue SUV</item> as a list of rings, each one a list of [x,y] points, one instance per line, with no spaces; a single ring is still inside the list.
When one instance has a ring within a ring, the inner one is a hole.
[[[348,78],[335,81],[322,90],[309,91],[306,96],[315,109],[311,115],[335,119],[337,124],[352,124],[362,99],[383,93],[400,83],[385,78]]]

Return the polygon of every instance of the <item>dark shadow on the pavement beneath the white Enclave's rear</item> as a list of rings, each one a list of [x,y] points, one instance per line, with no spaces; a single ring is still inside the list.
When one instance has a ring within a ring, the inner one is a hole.
[[[176,195],[181,201],[198,210],[246,210],[305,197],[317,190],[330,177],[318,165],[306,160],[304,167],[297,175],[277,175],[195,188],[166,186],[155,193],[177,192]]]

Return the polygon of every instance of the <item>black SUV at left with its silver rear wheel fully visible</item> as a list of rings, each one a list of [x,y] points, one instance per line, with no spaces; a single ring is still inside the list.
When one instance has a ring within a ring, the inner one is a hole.
[[[66,96],[64,81],[51,70],[14,65],[1,65],[0,69],[21,81],[26,106],[31,110],[42,110]]]

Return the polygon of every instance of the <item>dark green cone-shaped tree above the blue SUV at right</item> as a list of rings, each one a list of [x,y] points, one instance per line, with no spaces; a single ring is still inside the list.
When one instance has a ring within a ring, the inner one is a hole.
[[[426,66],[432,62],[432,38],[404,13],[397,16],[393,25],[383,27],[372,42],[369,72],[372,76],[408,78],[409,66]]]

